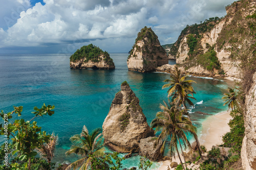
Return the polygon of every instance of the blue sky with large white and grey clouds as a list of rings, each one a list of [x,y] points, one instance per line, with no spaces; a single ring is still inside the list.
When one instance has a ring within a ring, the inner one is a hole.
[[[161,45],[186,25],[226,15],[234,0],[0,0],[0,54],[74,53],[90,43],[129,52],[151,27]]]

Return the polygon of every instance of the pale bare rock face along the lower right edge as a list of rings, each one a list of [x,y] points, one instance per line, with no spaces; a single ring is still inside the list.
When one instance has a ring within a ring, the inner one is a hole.
[[[256,73],[252,86],[246,95],[246,112],[244,115],[245,136],[241,157],[243,169],[256,169]]]

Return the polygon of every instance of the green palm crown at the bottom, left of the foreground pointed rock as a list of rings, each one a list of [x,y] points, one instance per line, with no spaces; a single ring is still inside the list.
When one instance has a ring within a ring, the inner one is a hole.
[[[101,128],[94,129],[90,134],[86,126],[83,126],[82,132],[70,138],[72,147],[66,152],[67,155],[77,154],[83,158],[71,163],[66,170],[76,169],[89,169],[92,164],[93,157],[102,157],[105,155],[105,148],[103,148],[103,135]]]

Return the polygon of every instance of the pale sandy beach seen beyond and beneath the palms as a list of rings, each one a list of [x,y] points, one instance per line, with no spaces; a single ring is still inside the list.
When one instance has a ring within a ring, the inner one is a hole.
[[[228,126],[228,123],[231,119],[229,113],[229,111],[225,111],[220,112],[216,115],[209,116],[202,123],[202,135],[200,136],[199,141],[200,144],[206,147],[207,151],[211,149],[212,145],[221,144],[222,136],[225,133],[229,132],[230,128]],[[173,161],[178,162],[178,164],[180,163],[178,156],[176,157],[176,160],[173,158]],[[166,170],[171,162],[164,161],[159,163],[162,164],[159,170]],[[193,168],[196,168],[196,165]]]

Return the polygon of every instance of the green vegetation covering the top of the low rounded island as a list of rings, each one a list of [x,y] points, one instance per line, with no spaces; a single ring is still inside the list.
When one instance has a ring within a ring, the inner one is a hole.
[[[110,65],[113,64],[113,59],[110,58],[109,53],[106,51],[103,52],[98,46],[95,46],[93,44],[82,46],[70,57],[70,61],[75,62],[80,59],[84,59],[84,62],[88,62],[88,61],[99,62],[100,55],[105,56],[104,58],[105,62],[107,62]]]

